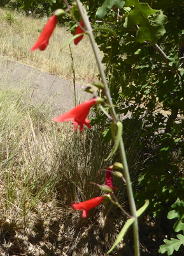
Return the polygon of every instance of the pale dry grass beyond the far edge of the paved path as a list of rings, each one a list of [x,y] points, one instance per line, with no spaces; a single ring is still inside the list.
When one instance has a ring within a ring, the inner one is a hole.
[[[61,51],[62,45],[71,37],[67,27],[57,26],[46,51],[30,52],[31,46],[39,36],[38,29],[43,28],[46,20],[34,19],[23,13],[0,8],[0,53],[10,60],[20,61],[45,72],[71,79],[73,72],[69,47]],[[77,46],[72,42],[71,49],[76,81],[87,83],[94,79],[98,70],[87,36],[84,36]]]

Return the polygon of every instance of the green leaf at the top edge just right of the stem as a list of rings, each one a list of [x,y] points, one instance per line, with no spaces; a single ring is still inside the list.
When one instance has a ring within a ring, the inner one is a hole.
[[[113,6],[117,6],[117,8],[121,9],[124,4],[125,2],[122,0],[105,0],[103,5],[97,8],[97,19],[103,19],[103,17],[106,15],[107,8],[111,9]]]

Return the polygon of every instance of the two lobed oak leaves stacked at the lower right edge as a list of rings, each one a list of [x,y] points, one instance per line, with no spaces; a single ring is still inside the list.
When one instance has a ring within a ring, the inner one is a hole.
[[[167,215],[167,218],[169,220],[178,218],[176,223],[174,224],[174,231],[175,232],[180,232],[181,230],[184,232],[184,202],[181,201],[179,198],[177,198],[176,202],[171,206],[174,208],[174,210],[170,211]],[[165,253],[167,252],[167,255],[172,255],[174,250],[178,251],[181,244],[184,245],[184,236],[181,234],[178,234],[176,236],[178,239],[171,238],[165,239],[164,243],[160,246],[159,252],[160,253]]]

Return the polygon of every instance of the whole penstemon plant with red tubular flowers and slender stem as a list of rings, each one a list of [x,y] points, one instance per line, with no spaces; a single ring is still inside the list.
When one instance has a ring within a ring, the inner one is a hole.
[[[73,13],[70,10],[70,6],[67,3],[67,1],[64,1],[64,3],[67,6],[67,11],[65,12],[62,9],[55,10],[53,13],[52,17],[48,20],[47,24],[41,31],[41,34],[39,35],[38,40],[35,42],[35,44],[31,48],[31,52],[35,51],[36,49],[40,49],[41,51],[44,51],[48,45],[50,36],[53,33],[53,30],[55,29],[55,26],[60,19],[60,16],[64,15],[67,13],[69,17],[73,18],[74,21],[78,22],[74,16]],[[120,120],[117,118],[117,113],[115,111],[115,107],[113,105],[113,101],[111,99],[111,94],[110,90],[108,88],[108,83],[106,81],[106,75],[103,69],[103,65],[101,62],[101,58],[99,56],[99,51],[94,39],[94,34],[93,34],[93,29],[92,26],[90,25],[89,19],[87,12],[84,8],[84,6],[81,4],[80,0],[76,0],[76,6],[78,8],[78,11],[80,13],[81,20],[78,24],[78,27],[76,28],[76,31],[74,33],[73,38],[67,42],[69,44],[72,40],[74,40],[74,44],[77,45],[80,40],[82,40],[83,35],[87,34],[88,38],[90,40],[90,44],[92,46],[92,50],[94,52],[97,66],[99,68],[99,74],[101,76],[101,82],[99,83],[93,83],[97,88],[103,91],[105,97],[104,99],[101,97],[94,97],[90,100],[87,100],[75,108],[71,109],[70,111],[67,111],[66,113],[54,117],[53,121],[55,122],[73,122],[74,124],[74,129],[77,131],[78,125],[80,126],[80,132],[83,131],[83,125],[86,125],[88,128],[90,128],[90,120],[87,119],[87,115],[90,111],[90,108],[94,105],[99,105],[100,108],[103,110],[103,112],[110,118],[111,120],[111,133],[112,137],[114,140],[114,147],[110,152],[110,155],[108,156],[105,161],[108,161],[115,152],[119,149],[119,154],[120,154],[120,159],[122,163],[114,163],[111,166],[109,166],[106,170],[106,184],[100,185],[96,184],[102,191],[104,191],[103,196],[97,196],[96,198],[91,198],[90,200],[87,200],[85,202],[80,202],[80,203],[73,203],[73,209],[74,210],[81,210],[83,211],[82,217],[86,218],[88,215],[88,211],[97,205],[103,203],[106,200],[110,200],[112,204],[117,205],[122,210],[122,214],[125,214],[128,219],[120,231],[120,234],[117,237],[117,240],[111,247],[108,253],[110,253],[115,246],[117,246],[118,243],[123,239],[125,232],[127,229],[132,225],[133,226],[133,232],[134,232],[134,255],[139,256],[140,251],[139,251],[139,228],[138,228],[138,217],[145,211],[146,207],[148,207],[148,200],[146,200],[145,205],[141,207],[138,211],[136,209],[136,204],[134,200],[134,195],[132,191],[132,185],[131,185],[131,179],[130,179],[130,174],[129,174],[129,168],[127,164],[127,157],[125,154],[125,147],[124,147],[124,141],[122,139],[122,130],[123,130],[123,125]],[[90,92],[90,90],[87,90]],[[94,92],[92,92],[94,93]],[[105,109],[103,108],[103,104],[106,104],[108,106],[110,115],[106,113]],[[117,171],[118,170],[118,171]],[[121,172],[120,172],[121,170]],[[129,207],[130,207],[130,212],[131,214],[127,213],[122,206],[118,203],[117,197],[115,196],[115,188],[113,186],[113,176],[118,177],[119,179],[122,179],[122,182],[125,183],[126,188],[127,188],[127,195],[129,199]],[[91,182],[95,184],[94,182]]]

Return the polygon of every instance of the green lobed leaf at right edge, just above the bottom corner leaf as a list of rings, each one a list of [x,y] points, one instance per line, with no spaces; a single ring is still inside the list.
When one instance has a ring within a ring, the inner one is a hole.
[[[178,218],[178,221],[176,221],[173,227],[174,231],[179,232],[183,230],[184,232],[184,202],[178,198],[171,207],[174,208],[174,210],[168,212],[167,218],[169,220]]]

